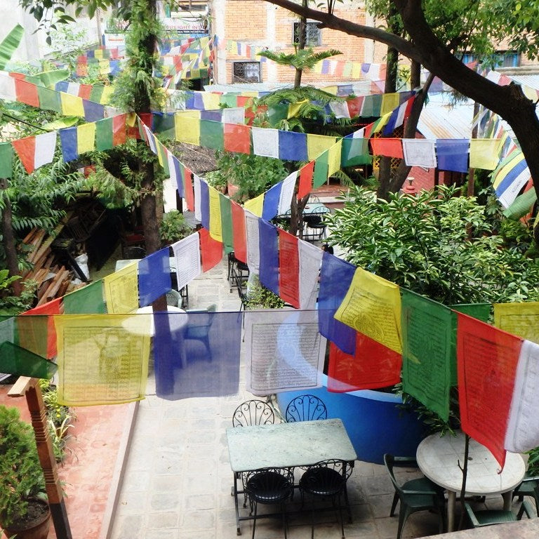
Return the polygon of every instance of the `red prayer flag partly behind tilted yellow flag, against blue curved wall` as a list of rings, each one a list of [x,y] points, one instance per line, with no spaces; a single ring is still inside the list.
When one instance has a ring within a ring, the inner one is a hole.
[[[394,385],[401,380],[401,368],[401,354],[358,332],[354,355],[330,343],[328,391],[342,393]]]

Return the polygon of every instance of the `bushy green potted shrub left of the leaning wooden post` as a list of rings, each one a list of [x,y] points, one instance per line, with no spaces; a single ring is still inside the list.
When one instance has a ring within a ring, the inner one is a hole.
[[[0,406],[0,526],[8,538],[46,539],[51,512],[32,427]]]

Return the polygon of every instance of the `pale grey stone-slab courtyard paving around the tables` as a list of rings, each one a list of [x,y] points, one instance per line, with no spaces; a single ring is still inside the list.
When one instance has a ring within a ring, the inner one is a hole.
[[[226,272],[226,263],[222,262],[189,284],[189,307],[215,303],[219,310],[239,310],[237,291],[230,293]],[[243,374],[242,369],[237,395],[178,401],[158,399],[150,378],[147,398],[138,407],[111,539],[237,537],[225,430],[232,425],[237,405],[252,398],[244,389]],[[404,481],[416,472],[400,473],[406,476]],[[350,524],[345,519],[347,538],[397,537],[398,517],[388,516],[394,490],[384,467],[357,461],[348,491],[353,521]],[[487,505],[501,507],[501,502],[498,496],[488,499]],[[247,514],[242,507],[241,511]],[[334,512],[316,514],[315,519],[315,537],[340,538]],[[437,531],[437,515],[420,512],[408,519],[403,537],[422,537]],[[241,532],[245,537],[251,535],[251,521],[241,523]],[[289,517],[289,538],[308,538],[310,533],[310,512]],[[259,519],[255,536],[283,537],[280,519]]]

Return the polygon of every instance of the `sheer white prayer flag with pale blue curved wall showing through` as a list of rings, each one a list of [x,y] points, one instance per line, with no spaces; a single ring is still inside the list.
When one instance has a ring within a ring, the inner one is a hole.
[[[245,312],[247,391],[264,396],[321,387],[326,339],[316,311]]]

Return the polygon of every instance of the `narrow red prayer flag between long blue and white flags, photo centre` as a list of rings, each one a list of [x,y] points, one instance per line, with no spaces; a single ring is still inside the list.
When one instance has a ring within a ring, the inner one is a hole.
[[[296,309],[300,308],[300,255],[298,237],[285,230],[279,232],[279,295]]]

